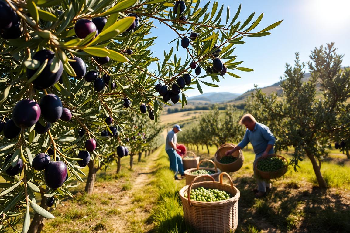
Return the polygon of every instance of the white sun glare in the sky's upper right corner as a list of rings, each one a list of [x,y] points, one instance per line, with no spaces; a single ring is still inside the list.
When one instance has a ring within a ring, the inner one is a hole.
[[[350,0],[308,0],[306,10],[310,19],[322,27],[348,28]]]

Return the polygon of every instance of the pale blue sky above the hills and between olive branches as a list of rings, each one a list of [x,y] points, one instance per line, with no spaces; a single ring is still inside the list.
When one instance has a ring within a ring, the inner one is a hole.
[[[202,3],[207,2],[202,0]],[[203,93],[244,93],[252,89],[254,84],[259,87],[272,85],[280,80],[285,71],[285,64],[294,63],[295,52],[300,53],[301,61],[307,62],[311,50],[331,42],[335,42],[338,53],[345,54],[343,66],[350,65],[349,0],[218,0],[218,3],[219,6],[224,4],[230,7],[231,17],[241,3],[239,21],[244,21],[253,12],[255,12],[254,19],[264,13],[259,26],[255,28],[256,31],[274,22],[280,20],[283,22],[270,31],[271,35],[245,38],[245,44],[237,45],[235,55],[238,57],[236,60],[243,60],[244,63],[240,66],[252,68],[253,72],[235,70],[234,73],[238,74],[241,79],[226,74],[225,80],[217,83],[221,88],[203,85]],[[169,51],[170,46],[175,45],[175,43],[170,45],[168,43],[177,35],[163,25],[158,29],[153,29],[152,34],[158,36],[155,45],[151,48],[154,51],[153,56],[159,57],[162,61],[163,50]],[[186,57],[181,46],[176,53],[178,56]],[[188,96],[200,94],[197,89],[185,93]]]

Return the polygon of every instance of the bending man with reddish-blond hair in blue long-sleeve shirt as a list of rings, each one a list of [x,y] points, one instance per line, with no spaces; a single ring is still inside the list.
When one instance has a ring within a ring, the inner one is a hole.
[[[275,137],[271,133],[270,129],[255,120],[251,114],[244,115],[240,122],[241,125],[245,125],[247,130],[245,131],[243,140],[232,150],[227,151],[226,155],[232,154],[237,150],[244,148],[249,142],[253,145],[255,160],[253,166],[258,158],[266,158],[269,154],[273,154],[273,146],[275,144]],[[255,173],[255,169],[254,169]],[[271,183],[269,181],[265,182],[264,180],[259,180],[257,178],[257,193],[256,197],[262,197],[266,194],[266,190],[271,189]]]

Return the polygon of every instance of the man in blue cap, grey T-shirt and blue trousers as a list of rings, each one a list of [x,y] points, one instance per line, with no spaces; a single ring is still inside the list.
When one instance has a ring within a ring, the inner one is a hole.
[[[182,158],[177,152],[181,152],[177,149],[177,135],[176,133],[182,131],[180,125],[174,125],[173,129],[168,132],[167,140],[165,143],[165,151],[167,152],[170,160],[170,170],[175,172],[175,180],[181,180],[177,177],[177,173],[180,172],[181,177],[184,177],[184,170],[182,166]]]

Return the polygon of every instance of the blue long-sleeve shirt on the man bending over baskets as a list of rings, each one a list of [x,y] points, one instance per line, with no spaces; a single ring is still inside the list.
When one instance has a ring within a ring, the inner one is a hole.
[[[260,156],[266,150],[267,145],[275,145],[275,141],[276,139],[270,129],[266,125],[256,122],[253,131],[249,129],[245,131],[244,138],[238,146],[244,148],[250,142],[253,145],[255,155]],[[268,154],[273,153],[272,148]]]

